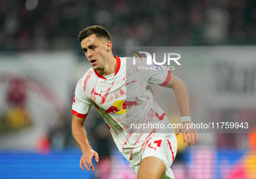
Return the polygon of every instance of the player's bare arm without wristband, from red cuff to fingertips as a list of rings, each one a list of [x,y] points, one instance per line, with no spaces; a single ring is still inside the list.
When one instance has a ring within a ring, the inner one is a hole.
[[[90,168],[92,171],[94,171],[94,167],[92,165],[92,158],[95,157],[95,161],[99,161],[98,153],[92,150],[88,139],[87,139],[87,132],[84,128],[84,121],[85,118],[80,118],[73,114],[72,119],[72,134],[75,139],[75,141],[78,143],[79,147],[82,151],[82,157],[80,160],[80,168],[84,170],[83,164],[87,171],[90,171]],[[88,167],[89,166],[89,167]]]

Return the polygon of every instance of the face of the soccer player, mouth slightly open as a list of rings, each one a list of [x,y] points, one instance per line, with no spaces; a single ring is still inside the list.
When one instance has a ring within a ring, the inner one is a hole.
[[[107,62],[108,42],[104,39],[97,38],[95,34],[82,40],[81,47],[94,70],[104,70]]]

